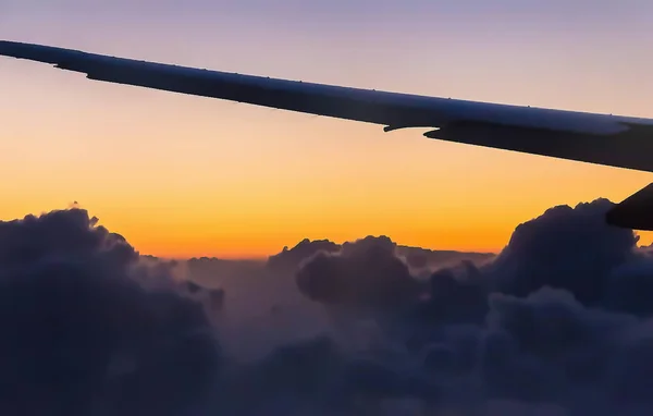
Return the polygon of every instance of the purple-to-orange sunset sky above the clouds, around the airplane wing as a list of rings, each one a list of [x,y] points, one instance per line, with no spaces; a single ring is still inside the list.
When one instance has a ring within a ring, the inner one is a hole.
[[[3,0],[0,38],[189,66],[653,117],[650,0]],[[498,250],[648,173],[0,59],[0,218],[74,200],[141,252],[263,256],[385,234]],[[653,157],[653,156],[652,156]],[[643,242],[652,241],[643,234]]]

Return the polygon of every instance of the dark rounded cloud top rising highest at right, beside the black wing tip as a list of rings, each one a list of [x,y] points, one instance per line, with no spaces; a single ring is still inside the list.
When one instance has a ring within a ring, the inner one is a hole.
[[[517,227],[491,267],[498,290],[523,296],[552,286],[583,304],[601,303],[607,274],[636,257],[638,242],[632,231],[605,224],[613,206],[596,199],[576,208],[554,207]]]

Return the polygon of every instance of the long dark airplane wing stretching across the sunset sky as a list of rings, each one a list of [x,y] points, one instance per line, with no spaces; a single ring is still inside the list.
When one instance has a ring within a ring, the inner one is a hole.
[[[0,56],[87,78],[374,124],[424,136],[653,172],[653,120],[331,86],[0,41]]]

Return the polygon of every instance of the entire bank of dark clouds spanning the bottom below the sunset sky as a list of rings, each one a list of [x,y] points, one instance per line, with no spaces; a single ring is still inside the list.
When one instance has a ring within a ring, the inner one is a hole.
[[[426,280],[384,236],[182,265],[78,208],[1,222],[0,411],[648,415],[653,259],[611,207]]]

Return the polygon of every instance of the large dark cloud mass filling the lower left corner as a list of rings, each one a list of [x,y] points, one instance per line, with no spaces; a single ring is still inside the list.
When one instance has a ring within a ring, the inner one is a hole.
[[[201,305],[85,210],[0,223],[2,414],[181,414],[220,351]],[[172,277],[169,277],[172,281]]]

